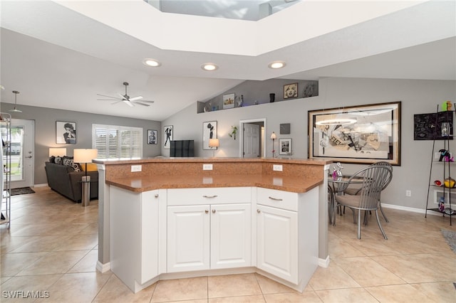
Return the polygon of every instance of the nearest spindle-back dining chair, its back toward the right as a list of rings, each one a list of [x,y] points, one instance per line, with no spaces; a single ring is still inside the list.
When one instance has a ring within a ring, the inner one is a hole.
[[[350,186],[353,179],[361,178],[363,181],[360,190],[356,195],[346,194],[335,197],[338,205],[346,206],[353,211],[353,223],[356,223],[356,221],[358,222],[358,239],[361,239],[361,212],[375,211],[375,218],[377,218],[378,227],[383,234],[383,238],[388,240],[385,231],[380,224],[378,208],[380,205],[380,193],[385,184],[390,181],[391,174],[392,170],[387,166],[376,164],[368,166],[365,169],[361,169],[356,174],[353,174],[353,176],[348,179],[346,184],[344,184],[347,188]],[[358,211],[358,220],[356,220],[356,211]]]

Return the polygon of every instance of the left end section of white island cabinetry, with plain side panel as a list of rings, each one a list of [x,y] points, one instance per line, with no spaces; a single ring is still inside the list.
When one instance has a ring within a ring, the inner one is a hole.
[[[110,186],[110,269],[133,292],[159,274],[160,191],[134,193]]]

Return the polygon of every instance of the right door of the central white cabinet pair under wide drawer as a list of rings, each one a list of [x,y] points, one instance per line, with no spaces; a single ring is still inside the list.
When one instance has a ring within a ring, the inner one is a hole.
[[[250,204],[211,206],[211,269],[252,264]]]

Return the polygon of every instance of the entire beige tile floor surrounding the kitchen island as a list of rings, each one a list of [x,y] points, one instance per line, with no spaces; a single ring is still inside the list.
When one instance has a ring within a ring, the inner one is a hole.
[[[1,302],[456,302],[456,253],[441,228],[449,218],[385,209],[356,239],[351,211],[329,226],[328,268],[303,293],[261,275],[162,280],[133,294],[112,272],[95,271],[98,201],[90,206],[47,187],[13,196],[11,230],[0,225]],[[22,292],[22,293],[20,293]],[[47,298],[26,297],[33,294]]]

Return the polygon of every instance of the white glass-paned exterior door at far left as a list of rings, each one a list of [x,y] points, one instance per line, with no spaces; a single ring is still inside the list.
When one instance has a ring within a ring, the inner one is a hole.
[[[11,188],[33,186],[35,121],[11,119]]]

